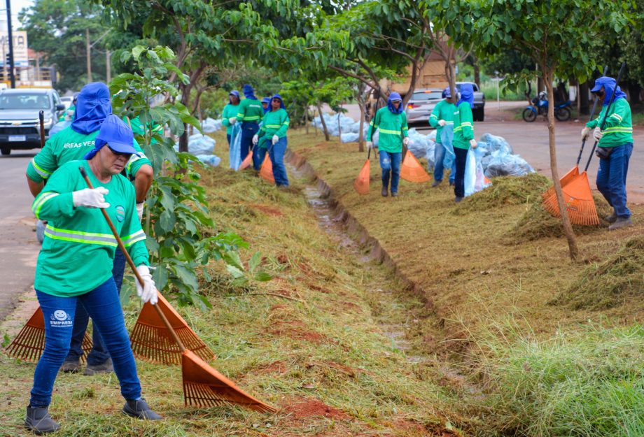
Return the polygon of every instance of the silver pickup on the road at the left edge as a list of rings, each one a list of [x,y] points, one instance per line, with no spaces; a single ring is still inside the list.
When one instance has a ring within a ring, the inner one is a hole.
[[[0,92],[0,152],[41,147],[38,113],[45,113],[45,139],[65,110],[55,89],[4,89]]]

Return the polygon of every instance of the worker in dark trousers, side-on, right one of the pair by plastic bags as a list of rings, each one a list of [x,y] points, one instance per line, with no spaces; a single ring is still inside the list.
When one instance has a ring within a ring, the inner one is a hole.
[[[461,85],[461,99],[456,103],[454,111],[454,155],[456,161],[456,175],[454,176],[454,201],[460,202],[465,196],[465,162],[468,150],[476,148],[474,139],[474,87],[470,83]]]

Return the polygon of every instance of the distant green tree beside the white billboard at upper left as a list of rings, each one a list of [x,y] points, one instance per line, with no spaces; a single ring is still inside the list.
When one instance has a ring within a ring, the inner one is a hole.
[[[105,33],[102,8],[83,0],[36,0],[18,16],[29,36],[29,48],[45,54],[41,65],[54,65],[60,73],[57,89],[83,87],[87,83],[85,30],[89,29],[92,42]],[[105,77],[101,41],[92,48],[92,80]]]

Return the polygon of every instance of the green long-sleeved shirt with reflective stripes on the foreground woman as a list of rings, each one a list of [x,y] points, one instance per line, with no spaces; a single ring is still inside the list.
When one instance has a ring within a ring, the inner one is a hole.
[[[73,206],[72,192],[87,188],[78,171],[80,166],[85,168],[94,188],[109,190],[105,195],[110,204],[106,211],[134,265],[148,265],[146,234],[137,215],[132,183],[120,174],[102,183],[92,173],[89,162],[67,162],[49,178],[31,205],[36,218],[48,222],[34,288],[54,296],[79,296],[112,277],[117,243],[101,210]]]

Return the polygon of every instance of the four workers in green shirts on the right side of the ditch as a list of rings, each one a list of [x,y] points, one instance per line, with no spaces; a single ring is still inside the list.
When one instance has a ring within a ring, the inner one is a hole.
[[[631,107],[626,101],[626,94],[619,89],[614,78],[598,78],[591,93],[602,101],[603,109],[596,119],[586,124],[582,130],[582,140],[592,134],[598,141],[596,153],[600,162],[597,188],[613,208],[612,214],[604,218],[610,222],[609,229],[615,230],[632,224],[631,211],[626,206],[626,174],[633,151]],[[454,201],[460,202],[465,196],[463,182],[468,150],[477,148],[472,117],[474,89],[467,83],[460,85],[458,92],[452,92],[447,87],[443,90],[442,97],[443,100],[436,104],[428,120],[430,126],[437,130],[432,187],[440,185],[444,177],[446,149],[442,146],[443,130],[449,125],[453,129],[450,131],[453,131],[451,144],[455,155],[449,172],[449,184],[454,185]],[[602,129],[601,122],[604,118],[606,121]],[[389,95],[387,106],[380,108],[372,118],[367,131],[368,148],[374,147],[372,139],[376,130],[379,131],[381,194],[387,196],[391,192],[391,196],[395,197],[398,196],[402,146],[409,144],[407,117],[402,108],[402,98],[397,92]]]

